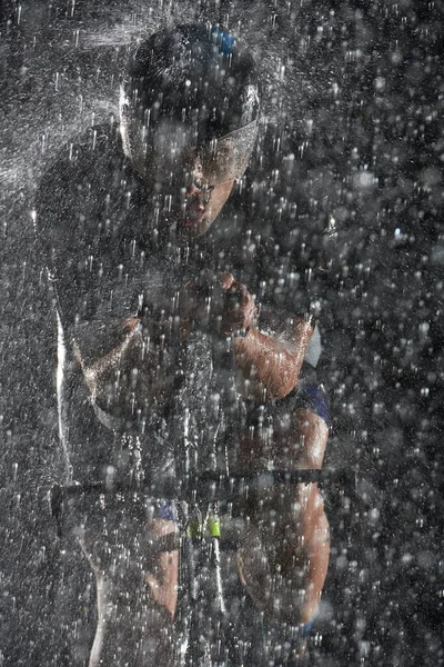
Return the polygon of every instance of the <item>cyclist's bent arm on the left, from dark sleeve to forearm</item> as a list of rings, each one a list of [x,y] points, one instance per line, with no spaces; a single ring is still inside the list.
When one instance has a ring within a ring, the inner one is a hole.
[[[137,235],[142,213],[127,206],[127,189],[114,183],[119,165],[110,172],[108,157],[95,165],[95,153],[82,149],[71,160],[65,151],[44,175],[36,198],[36,259],[42,276],[49,275],[67,372],[74,358],[100,407],[113,411],[124,396],[128,411],[135,380],[138,391],[142,385],[151,391],[162,385],[163,378],[152,380],[168,344],[157,313],[144,313],[142,321],[138,311],[149,298],[159,310],[169,299],[155,258],[141,270]],[[49,313],[48,325],[53,321]],[[147,368],[152,372],[143,377]]]

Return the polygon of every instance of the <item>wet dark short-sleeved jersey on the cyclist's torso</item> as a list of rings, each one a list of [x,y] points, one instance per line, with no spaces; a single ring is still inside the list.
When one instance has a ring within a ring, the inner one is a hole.
[[[184,352],[174,303],[188,281],[229,269],[230,253],[218,257],[205,237],[188,246],[162,237],[157,218],[164,203],[148,196],[112,126],[91,128],[62,147],[40,185],[36,243],[57,312],[59,432],[68,479],[168,474],[178,428],[201,447],[229,427],[218,407],[226,374],[213,372],[208,335],[193,335]],[[244,270],[249,289],[259,291],[259,277],[252,265],[243,269],[238,250],[236,279],[243,280]],[[167,322],[154,341],[137,316],[142,310],[151,322]],[[316,331],[307,351],[312,366],[320,351]],[[192,415],[186,428],[193,432],[178,427],[180,411]]]

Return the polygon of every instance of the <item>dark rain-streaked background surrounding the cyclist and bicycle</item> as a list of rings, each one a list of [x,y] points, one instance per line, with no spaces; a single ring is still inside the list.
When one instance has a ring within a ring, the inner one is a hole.
[[[326,342],[326,462],[357,479],[325,486],[332,559],[311,663],[444,664],[437,0],[0,3],[0,664],[81,665],[93,624],[90,575],[70,545],[60,555],[47,502],[57,416],[33,193],[64,140],[117,112],[129,46],[204,18],[261,63],[258,230],[293,239]]]

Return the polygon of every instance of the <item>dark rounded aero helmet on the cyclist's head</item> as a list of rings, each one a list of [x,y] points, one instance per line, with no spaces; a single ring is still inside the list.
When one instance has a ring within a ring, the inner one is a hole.
[[[239,178],[254,146],[258,118],[254,60],[220,28],[164,29],[130,59],[121,90],[122,139],[139,171],[145,169],[159,127],[167,123],[165,136],[180,127],[183,145],[199,148],[201,155],[206,151],[208,159],[219,162],[216,168]],[[228,153],[230,168],[223,166]]]

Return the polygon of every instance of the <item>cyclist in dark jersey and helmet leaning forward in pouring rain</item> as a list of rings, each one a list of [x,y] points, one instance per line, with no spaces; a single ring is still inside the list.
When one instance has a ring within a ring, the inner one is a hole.
[[[316,366],[317,330],[291,303],[284,312],[259,311],[238,279],[239,262],[234,277],[230,256],[218,256],[206,242],[246,169],[258,121],[258,76],[242,44],[209,26],[167,29],[132,56],[120,122],[68,142],[43,177],[38,242],[57,312],[65,481],[119,479],[137,486],[170,475],[176,417],[183,421],[191,414],[196,434],[210,428],[211,407],[216,414],[214,399],[231,371],[210,358],[209,341],[228,338],[244,404],[231,469],[322,466],[329,436],[323,394],[315,384],[299,388],[304,357]],[[306,626],[316,614],[329,561],[329,524],[317,486],[276,490],[248,511],[250,528],[239,549],[243,585],[270,623]],[[174,535],[171,507],[150,512],[150,535]],[[115,659],[117,649],[109,648],[115,629],[111,598],[119,606],[137,597],[122,593],[134,580],[121,575],[115,595],[109,593],[107,581],[119,578],[118,568],[115,559],[113,567],[104,566],[110,540],[94,520],[83,519],[78,531],[98,585],[91,666]],[[119,607],[132,614],[127,626],[139,626],[142,637],[121,637],[120,650],[128,650],[134,665],[149,656],[167,664],[178,552],[171,547],[147,563],[140,519],[114,520],[134,558],[144,563],[143,595],[154,603],[143,618],[135,603]]]

